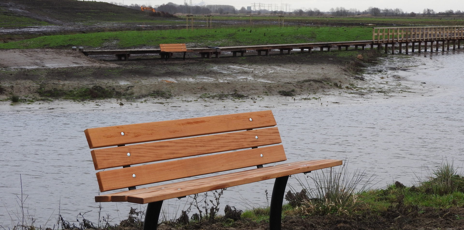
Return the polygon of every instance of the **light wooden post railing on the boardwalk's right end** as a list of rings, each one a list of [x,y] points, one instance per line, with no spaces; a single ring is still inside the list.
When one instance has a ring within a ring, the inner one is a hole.
[[[464,39],[464,26],[374,27],[373,43]]]

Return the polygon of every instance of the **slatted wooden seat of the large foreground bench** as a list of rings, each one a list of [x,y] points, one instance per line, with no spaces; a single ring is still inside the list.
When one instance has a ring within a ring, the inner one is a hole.
[[[339,165],[342,165],[342,160],[299,161],[277,166],[251,169],[237,173],[227,173],[213,177],[181,181],[168,185],[156,185],[146,189],[141,188],[101,195],[95,197],[95,201],[129,201],[137,204],[146,204]]]

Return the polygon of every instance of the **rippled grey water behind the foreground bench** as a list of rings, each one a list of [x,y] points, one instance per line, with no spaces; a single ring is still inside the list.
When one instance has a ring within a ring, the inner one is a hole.
[[[464,75],[462,53],[434,53],[431,66],[414,70],[409,80],[449,88],[439,96],[419,99],[350,104],[334,107],[276,108],[273,113],[290,161],[349,158],[349,168],[377,176],[375,186],[398,180],[412,184],[424,177],[423,165],[436,166],[443,159],[464,162]],[[322,99],[323,100],[323,99]],[[220,115],[247,110],[169,111],[69,111],[1,112],[0,225],[12,226],[21,217],[21,185],[26,220],[52,227],[58,214],[75,222],[79,212],[97,223],[98,213],[118,222],[129,207],[123,203],[93,202],[98,195],[95,172],[83,130],[124,123],[139,123]],[[20,181],[20,175],[22,184]],[[273,181],[229,188],[221,205],[237,208],[266,205],[264,191]],[[293,187],[299,188],[291,179]],[[27,198],[26,198],[27,197]],[[174,218],[187,208],[189,199],[168,200],[165,217]],[[13,221],[12,221],[13,220]],[[12,223],[13,222],[13,223]]]

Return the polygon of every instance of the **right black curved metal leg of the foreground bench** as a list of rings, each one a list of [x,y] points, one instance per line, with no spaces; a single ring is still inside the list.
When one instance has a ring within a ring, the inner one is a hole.
[[[282,224],[282,202],[289,176],[278,177],[272,190],[271,209],[269,213],[269,230],[280,230]]]

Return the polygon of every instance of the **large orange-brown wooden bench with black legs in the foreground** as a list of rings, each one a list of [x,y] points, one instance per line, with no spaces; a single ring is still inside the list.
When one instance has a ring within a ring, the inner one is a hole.
[[[282,141],[277,127],[273,127],[275,125],[274,116],[268,110],[88,128],[84,132],[89,147],[99,148],[91,151],[95,169],[122,166],[97,173],[100,192],[129,188],[129,191],[96,196],[95,201],[148,203],[144,230],[156,230],[163,200],[275,178],[269,224],[271,230],[280,230],[289,175],[339,166],[342,160],[307,160],[263,167],[287,160],[284,147],[277,145]],[[142,142],[149,143],[135,144]],[[232,150],[239,151],[229,152]],[[171,160],[185,157],[190,158]],[[171,161],[132,166],[161,160]],[[135,188],[252,166],[257,168]]]

